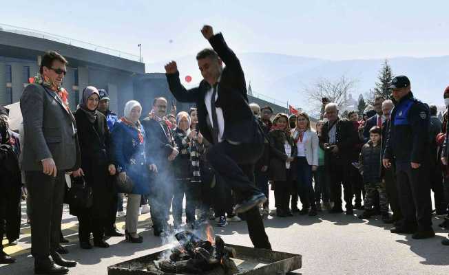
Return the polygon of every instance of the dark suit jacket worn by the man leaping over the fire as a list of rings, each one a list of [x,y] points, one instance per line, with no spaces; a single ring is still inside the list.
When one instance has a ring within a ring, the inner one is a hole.
[[[222,34],[212,36],[209,43],[226,64],[218,85],[218,100],[215,103],[216,107],[222,108],[225,118],[224,139],[230,142],[251,143],[260,133],[256,118],[248,106],[247,86],[240,61],[229,49]],[[213,142],[210,127],[207,124],[208,113],[205,105],[205,94],[211,86],[202,80],[198,87],[187,90],[181,85],[178,72],[167,74],[167,81],[176,100],[196,102],[200,132],[209,142]]]

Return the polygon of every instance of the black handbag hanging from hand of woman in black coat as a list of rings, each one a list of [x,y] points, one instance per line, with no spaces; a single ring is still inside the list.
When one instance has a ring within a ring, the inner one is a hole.
[[[90,208],[93,204],[92,187],[86,184],[84,177],[70,177],[72,187],[68,190],[68,200],[71,207]]]

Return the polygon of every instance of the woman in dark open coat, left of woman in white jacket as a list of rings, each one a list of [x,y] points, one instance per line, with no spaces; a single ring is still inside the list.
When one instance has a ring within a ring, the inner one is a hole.
[[[296,179],[295,155],[296,146],[291,137],[289,118],[284,113],[278,113],[269,132],[270,150],[270,181],[274,181],[274,196],[276,215],[278,217],[293,216],[289,209],[293,181]]]

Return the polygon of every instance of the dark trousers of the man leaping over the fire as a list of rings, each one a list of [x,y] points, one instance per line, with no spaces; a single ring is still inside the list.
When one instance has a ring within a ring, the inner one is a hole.
[[[236,192],[237,201],[260,193],[254,183],[254,164],[262,155],[264,144],[231,145],[220,142],[213,145],[207,153],[207,159],[216,172],[216,177],[224,180],[225,184]],[[258,206],[254,206],[243,214],[247,221],[249,237],[255,248],[271,249],[264,223]]]

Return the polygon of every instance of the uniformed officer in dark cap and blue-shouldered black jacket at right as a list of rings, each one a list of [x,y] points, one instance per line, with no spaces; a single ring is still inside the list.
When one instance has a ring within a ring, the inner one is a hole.
[[[390,116],[383,164],[391,166],[395,159],[399,203],[404,219],[390,231],[413,234],[413,239],[435,236],[430,217],[429,127],[426,104],[413,97],[410,80],[396,76],[390,85],[395,104]]]

